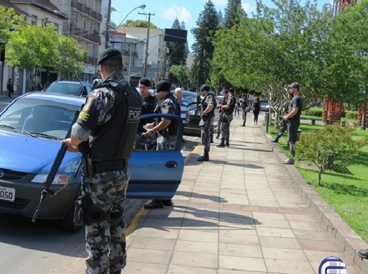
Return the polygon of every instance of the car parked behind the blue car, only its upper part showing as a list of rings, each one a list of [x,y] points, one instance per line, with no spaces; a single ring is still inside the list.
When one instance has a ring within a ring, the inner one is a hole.
[[[87,96],[91,91],[89,82],[55,81],[47,87],[46,92],[68,94],[75,96]]]

